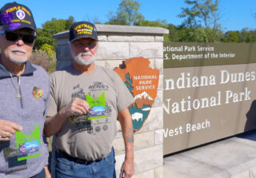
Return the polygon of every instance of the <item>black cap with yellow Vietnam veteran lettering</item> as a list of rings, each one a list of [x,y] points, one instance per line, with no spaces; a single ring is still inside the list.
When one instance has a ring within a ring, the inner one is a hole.
[[[70,42],[74,42],[80,38],[98,40],[96,26],[90,22],[74,22],[70,27]]]

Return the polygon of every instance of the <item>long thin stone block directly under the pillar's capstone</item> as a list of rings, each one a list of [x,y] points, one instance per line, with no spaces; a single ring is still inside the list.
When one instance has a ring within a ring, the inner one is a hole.
[[[154,35],[110,34],[109,42],[154,42]]]

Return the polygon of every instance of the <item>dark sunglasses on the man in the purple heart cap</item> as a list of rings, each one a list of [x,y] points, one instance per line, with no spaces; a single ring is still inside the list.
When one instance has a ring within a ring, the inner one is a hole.
[[[6,40],[16,42],[18,38],[22,38],[22,41],[27,44],[32,44],[36,39],[36,36],[32,34],[19,34],[16,32],[0,31],[0,34],[6,35]]]

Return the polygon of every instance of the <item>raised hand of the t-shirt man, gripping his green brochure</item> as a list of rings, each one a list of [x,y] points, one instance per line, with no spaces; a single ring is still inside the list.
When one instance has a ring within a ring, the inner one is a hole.
[[[74,98],[74,101],[71,101],[68,105],[60,110],[60,114],[65,117],[70,117],[74,113],[87,113],[89,108],[90,106],[86,101],[76,97]]]

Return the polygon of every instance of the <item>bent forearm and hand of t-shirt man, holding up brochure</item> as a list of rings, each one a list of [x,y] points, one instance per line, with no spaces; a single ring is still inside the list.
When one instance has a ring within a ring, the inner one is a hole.
[[[46,117],[44,125],[44,133],[47,137],[58,133],[62,129],[63,125],[66,123],[66,119],[73,115],[74,113],[86,113],[89,109],[89,105],[86,101],[76,97],[74,101],[66,105],[58,111],[54,117]]]

